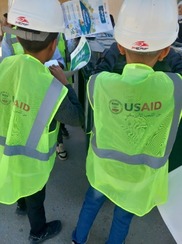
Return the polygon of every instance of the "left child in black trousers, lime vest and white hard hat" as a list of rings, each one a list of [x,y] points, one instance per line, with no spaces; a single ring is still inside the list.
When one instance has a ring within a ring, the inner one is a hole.
[[[58,124],[82,126],[84,114],[61,67],[44,65],[64,30],[59,1],[14,0],[8,17],[16,28],[4,31],[17,36],[24,53],[0,63],[0,203],[26,207],[29,241],[35,244],[62,228],[60,220],[47,222],[44,208]]]

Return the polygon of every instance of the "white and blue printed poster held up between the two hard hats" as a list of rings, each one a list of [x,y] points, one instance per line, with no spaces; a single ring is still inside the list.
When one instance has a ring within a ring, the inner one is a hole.
[[[107,0],[72,0],[62,9],[67,40],[113,30]]]

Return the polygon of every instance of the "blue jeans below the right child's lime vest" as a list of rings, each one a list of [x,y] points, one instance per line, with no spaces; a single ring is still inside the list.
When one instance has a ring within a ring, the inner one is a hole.
[[[95,190],[91,186],[89,187],[77,226],[72,234],[72,240],[79,244],[86,243],[90,228],[106,199],[106,196],[101,192]],[[128,234],[132,217],[132,213],[115,205],[110,234],[106,244],[122,244],[124,242]]]

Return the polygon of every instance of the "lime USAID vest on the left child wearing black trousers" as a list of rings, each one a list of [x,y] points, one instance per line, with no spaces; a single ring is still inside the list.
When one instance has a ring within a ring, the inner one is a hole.
[[[12,204],[49,178],[59,125],[49,127],[67,88],[25,54],[4,59],[0,73],[0,202]]]

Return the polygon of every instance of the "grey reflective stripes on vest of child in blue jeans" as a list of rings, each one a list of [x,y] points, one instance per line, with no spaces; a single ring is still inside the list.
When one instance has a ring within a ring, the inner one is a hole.
[[[166,73],[166,74],[170,77],[170,79],[173,80],[174,83],[175,109],[174,109],[174,116],[171,124],[165,155],[163,157],[158,158],[146,154],[128,155],[115,150],[100,149],[97,147],[96,144],[96,136],[95,136],[96,133],[94,128],[94,136],[92,138],[91,145],[94,153],[98,157],[113,159],[131,165],[145,164],[154,169],[160,168],[166,163],[176,138],[180,112],[182,109],[182,79],[177,74],[173,74],[173,73]],[[93,101],[93,93],[91,94],[91,92],[93,92],[94,90],[94,83],[95,83],[94,78],[95,77],[93,77],[92,84],[89,84],[89,88],[91,88],[90,91],[91,101]]]

